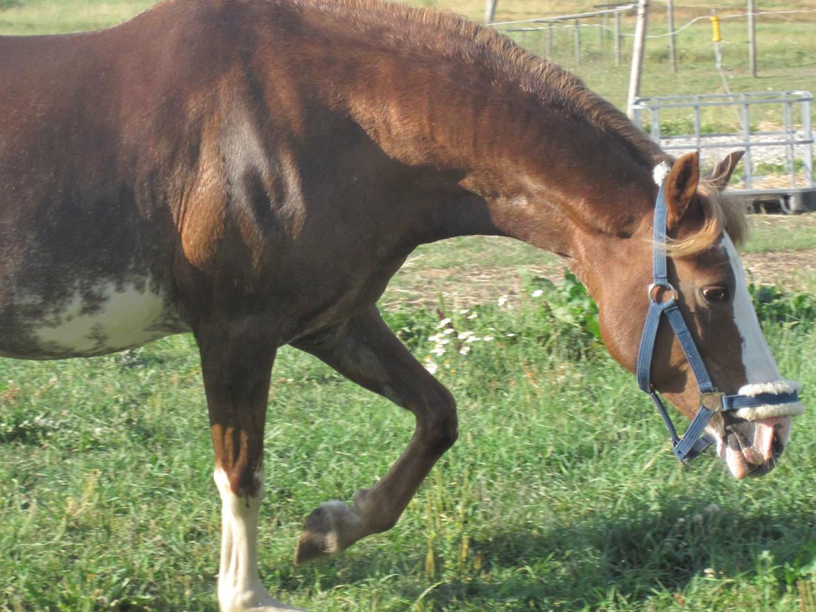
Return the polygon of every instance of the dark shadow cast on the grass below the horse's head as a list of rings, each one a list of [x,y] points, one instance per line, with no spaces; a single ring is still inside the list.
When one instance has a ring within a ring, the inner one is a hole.
[[[502,610],[595,608],[609,601],[613,586],[626,601],[642,601],[654,592],[681,592],[712,568],[743,580],[769,573],[781,591],[784,564],[816,560],[816,525],[804,512],[741,516],[737,508],[672,499],[656,511],[644,506],[626,516],[548,525],[538,533],[485,531],[469,540],[467,559],[456,545],[439,546],[433,577],[426,574],[425,546],[417,541],[416,552],[402,557],[380,550],[326,562],[317,572],[320,588],[398,574],[402,579],[391,589],[408,601],[435,585],[423,596],[434,610],[456,602]],[[309,579],[299,583],[313,585]]]

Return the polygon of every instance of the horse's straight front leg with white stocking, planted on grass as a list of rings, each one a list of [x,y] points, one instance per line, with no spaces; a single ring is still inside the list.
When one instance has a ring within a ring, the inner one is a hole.
[[[264,422],[277,343],[252,321],[196,330],[221,497],[221,612],[296,610],[258,576],[258,512],[264,489]]]

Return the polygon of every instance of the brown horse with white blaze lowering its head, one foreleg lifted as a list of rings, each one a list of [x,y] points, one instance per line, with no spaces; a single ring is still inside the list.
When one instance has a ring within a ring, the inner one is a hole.
[[[666,169],[669,276],[714,384],[781,393],[719,196],[577,78],[490,29],[373,0],[168,0],[113,29],[0,38],[0,355],[100,355],[192,331],[223,502],[221,610],[289,610],[255,530],[275,353],[291,344],[416,416],[297,561],[388,530],[457,437],[450,393],[375,302],[419,244],[516,237],[569,261],[634,370]],[[669,169],[668,164],[671,164]],[[657,178],[657,180],[656,180]],[[698,390],[659,328],[651,382]],[[773,467],[797,402],[716,415],[736,477]]]

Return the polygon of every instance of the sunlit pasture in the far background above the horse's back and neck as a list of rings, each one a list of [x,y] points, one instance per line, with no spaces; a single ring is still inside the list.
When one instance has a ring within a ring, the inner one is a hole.
[[[417,6],[437,7],[481,20],[484,0],[414,0]],[[150,0],[0,0],[0,34],[40,34],[100,29],[118,23],[149,7]],[[499,22],[525,20],[593,11],[595,0],[499,0],[495,19]],[[715,0],[675,0],[675,29],[713,11],[721,16],[725,82],[731,91],[816,90],[816,5],[810,0],[756,0],[756,10],[772,14],[757,17],[758,78],[748,69],[746,2]],[[805,11],[783,13],[780,11]],[[582,59],[574,63],[572,22],[557,25],[552,59],[578,73],[595,91],[623,106],[626,103],[629,60],[634,33],[633,13],[623,17],[623,62],[615,66],[612,34],[605,31],[603,48],[599,30],[584,20]],[[527,24],[529,26],[529,24]],[[611,27],[611,21],[606,24]],[[504,26],[503,26],[504,27]],[[520,26],[507,26],[520,27]],[[650,36],[667,33],[664,2],[651,2]],[[511,33],[532,51],[543,49],[536,33]],[[522,36],[524,40],[522,41]],[[641,95],[674,95],[725,92],[723,78],[715,69],[712,28],[707,19],[698,20],[676,36],[679,69],[669,65],[668,38],[650,38],[646,46]],[[765,109],[754,118],[759,122],[779,122],[779,108]],[[721,124],[734,118],[705,116],[703,120]]]

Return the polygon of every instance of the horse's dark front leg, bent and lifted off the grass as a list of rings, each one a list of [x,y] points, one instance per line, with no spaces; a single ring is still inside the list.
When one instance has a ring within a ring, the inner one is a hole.
[[[351,507],[330,501],[308,517],[295,552],[295,562],[302,563],[342,551],[366,535],[391,529],[433,464],[453,445],[458,429],[450,392],[415,360],[376,308],[328,335],[295,346],[416,417],[408,447],[375,486],[358,490]]]

